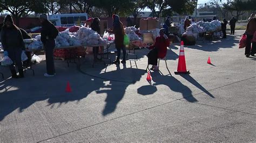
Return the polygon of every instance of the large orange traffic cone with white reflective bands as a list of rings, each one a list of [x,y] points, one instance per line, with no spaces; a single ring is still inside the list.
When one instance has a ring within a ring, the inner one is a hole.
[[[187,71],[186,68],[186,60],[185,60],[185,51],[184,51],[184,42],[180,42],[180,51],[179,51],[179,61],[178,61],[178,68],[174,74],[188,74],[190,71]]]

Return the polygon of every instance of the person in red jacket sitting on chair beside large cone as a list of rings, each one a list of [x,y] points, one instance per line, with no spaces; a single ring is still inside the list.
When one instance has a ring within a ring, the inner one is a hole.
[[[157,60],[164,59],[167,53],[167,47],[170,46],[170,40],[165,34],[165,28],[161,28],[159,31],[159,36],[156,38],[154,45],[147,48],[152,49],[149,54],[147,54],[147,65],[152,65],[151,70],[158,70]]]

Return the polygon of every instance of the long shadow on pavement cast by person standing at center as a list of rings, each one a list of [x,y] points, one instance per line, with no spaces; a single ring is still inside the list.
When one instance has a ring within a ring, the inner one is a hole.
[[[122,74],[122,77],[120,78],[118,74]],[[102,111],[102,115],[107,116],[110,113],[114,112],[117,108],[118,103],[122,101],[125,95],[126,88],[129,85],[135,84],[137,81],[139,81],[144,74],[145,70],[143,69],[124,68],[118,71],[110,71],[107,73],[96,75],[112,79],[110,81],[105,80],[104,82],[108,81],[109,84],[104,85],[102,87],[103,90],[96,91],[97,94],[105,93],[107,95],[105,99],[105,108]]]

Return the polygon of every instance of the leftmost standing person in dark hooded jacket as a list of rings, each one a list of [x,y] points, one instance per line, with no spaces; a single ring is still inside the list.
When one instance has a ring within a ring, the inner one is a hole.
[[[25,53],[25,44],[23,41],[22,33],[19,28],[14,24],[14,20],[10,15],[4,17],[4,25],[1,31],[1,41],[4,49],[4,55],[14,62],[9,66],[12,78],[22,78],[22,53]],[[19,76],[16,74],[14,65],[18,67]]]

